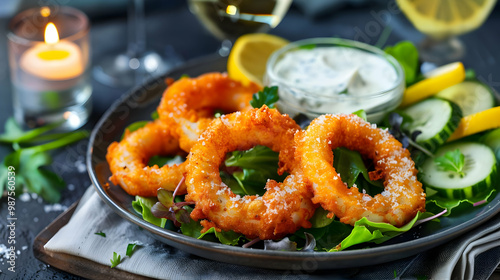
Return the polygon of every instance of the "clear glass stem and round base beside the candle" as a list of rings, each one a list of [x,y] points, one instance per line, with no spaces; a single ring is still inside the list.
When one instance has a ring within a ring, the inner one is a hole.
[[[165,72],[169,65],[161,55],[146,49],[144,0],[129,0],[128,42],[123,53],[104,57],[94,66],[94,78],[108,86],[129,88]]]

